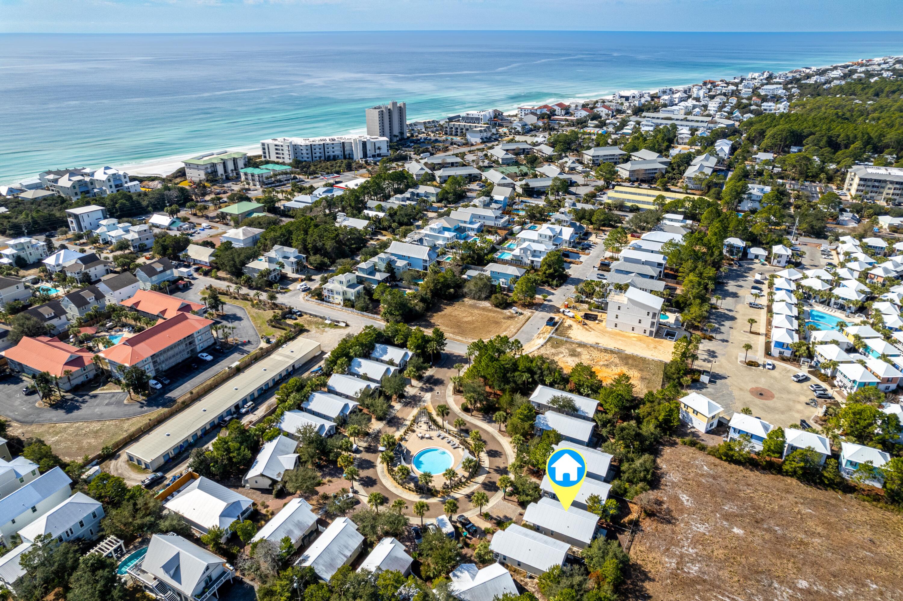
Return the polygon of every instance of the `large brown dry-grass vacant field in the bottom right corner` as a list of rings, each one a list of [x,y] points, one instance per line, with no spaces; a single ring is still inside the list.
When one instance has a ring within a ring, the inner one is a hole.
[[[658,466],[674,515],[642,522],[633,598],[903,598],[898,513],[683,445],[664,448]]]

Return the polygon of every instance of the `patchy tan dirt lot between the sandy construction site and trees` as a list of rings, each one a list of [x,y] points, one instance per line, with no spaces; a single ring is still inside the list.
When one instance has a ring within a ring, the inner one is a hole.
[[[562,328],[558,328],[555,336],[560,336]],[[643,395],[650,390],[662,387],[665,364],[661,361],[647,359],[642,356],[619,353],[616,350],[590,347],[557,337],[549,338],[531,355],[545,355],[554,359],[564,370],[570,371],[578,363],[591,365],[602,382],[610,382],[620,374],[628,374],[634,385],[634,392]]]

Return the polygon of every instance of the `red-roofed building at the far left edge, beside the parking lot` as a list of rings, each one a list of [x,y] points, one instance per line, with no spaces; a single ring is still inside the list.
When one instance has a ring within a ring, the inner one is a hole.
[[[94,353],[57,338],[23,337],[19,344],[7,348],[3,355],[15,371],[29,375],[42,372],[55,375],[60,378],[59,384],[63,390],[69,390],[97,374],[97,366],[91,362]]]

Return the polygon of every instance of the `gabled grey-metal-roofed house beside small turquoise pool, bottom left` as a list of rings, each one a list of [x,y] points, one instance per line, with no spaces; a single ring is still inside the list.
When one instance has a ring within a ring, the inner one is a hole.
[[[172,532],[154,534],[144,557],[127,573],[166,601],[205,601],[234,576],[226,559]]]

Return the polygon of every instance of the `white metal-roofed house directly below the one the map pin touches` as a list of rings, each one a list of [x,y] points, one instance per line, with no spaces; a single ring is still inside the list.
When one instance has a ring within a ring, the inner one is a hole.
[[[489,549],[499,563],[538,576],[563,566],[571,545],[513,523],[492,535]]]

